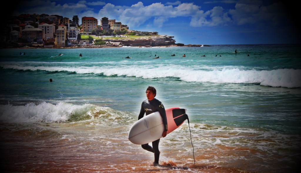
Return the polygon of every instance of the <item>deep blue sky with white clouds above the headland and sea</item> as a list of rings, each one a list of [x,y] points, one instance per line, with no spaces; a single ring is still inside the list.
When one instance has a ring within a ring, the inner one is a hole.
[[[282,0],[23,0],[11,15],[49,14],[116,19],[137,31],[183,44],[300,43],[297,5]],[[295,19],[298,20],[295,21]]]

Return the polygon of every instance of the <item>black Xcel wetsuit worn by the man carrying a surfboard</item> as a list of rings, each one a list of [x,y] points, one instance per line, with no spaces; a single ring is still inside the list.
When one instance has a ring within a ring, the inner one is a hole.
[[[157,112],[159,111],[162,120],[163,120],[163,125],[164,125],[164,130],[167,131],[167,119],[166,119],[166,112],[165,112],[165,108],[163,106],[163,104],[157,100],[157,99],[153,99],[151,101],[149,101],[148,99],[144,100],[141,104],[141,109],[140,109],[140,114],[138,116],[138,120],[140,120],[143,116],[144,113],[145,115],[149,115],[151,113]],[[160,139],[153,141],[152,142],[152,146],[151,147],[149,144],[142,144],[141,147],[144,150],[153,152],[155,155],[155,163],[159,163],[159,156],[160,156],[160,151],[159,151],[159,142]]]

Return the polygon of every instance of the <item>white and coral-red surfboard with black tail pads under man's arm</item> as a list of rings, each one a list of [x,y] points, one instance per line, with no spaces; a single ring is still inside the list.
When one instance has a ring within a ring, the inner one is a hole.
[[[181,126],[188,116],[185,108],[165,109],[167,134]],[[147,144],[162,138],[164,125],[159,112],[154,112],[136,121],[129,130],[129,141],[134,144]]]

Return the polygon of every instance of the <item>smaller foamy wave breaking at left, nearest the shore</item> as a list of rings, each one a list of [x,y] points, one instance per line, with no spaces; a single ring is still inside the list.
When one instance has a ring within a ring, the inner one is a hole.
[[[119,117],[122,116],[123,119]],[[66,102],[57,104],[42,102],[24,106],[0,105],[0,121],[4,123],[79,122],[95,120],[95,126],[123,124],[130,120],[128,114],[92,104],[75,105]]]

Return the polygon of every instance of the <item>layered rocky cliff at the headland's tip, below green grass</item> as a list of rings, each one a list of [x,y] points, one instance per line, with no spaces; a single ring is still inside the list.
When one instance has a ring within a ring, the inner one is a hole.
[[[175,45],[174,36],[160,35],[160,36],[152,36],[152,37],[141,37],[137,39],[104,39],[104,41],[108,42],[120,42],[120,44],[124,46],[170,46]]]

